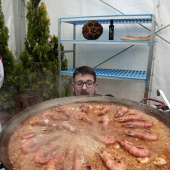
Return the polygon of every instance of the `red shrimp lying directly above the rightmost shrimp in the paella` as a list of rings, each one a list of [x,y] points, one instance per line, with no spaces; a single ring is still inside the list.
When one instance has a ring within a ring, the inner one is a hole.
[[[129,128],[149,128],[153,126],[153,122],[151,120],[136,120],[123,123],[122,125]]]

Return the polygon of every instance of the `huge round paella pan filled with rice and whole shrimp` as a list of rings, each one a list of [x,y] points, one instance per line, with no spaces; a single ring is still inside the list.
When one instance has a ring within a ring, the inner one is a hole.
[[[6,169],[170,169],[170,116],[106,96],[32,106],[1,133]]]

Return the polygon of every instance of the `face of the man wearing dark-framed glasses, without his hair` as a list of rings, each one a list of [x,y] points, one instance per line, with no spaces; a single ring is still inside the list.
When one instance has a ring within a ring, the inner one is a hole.
[[[97,83],[90,74],[77,74],[75,82],[72,83],[73,93],[76,96],[89,95],[93,96],[97,90]]]

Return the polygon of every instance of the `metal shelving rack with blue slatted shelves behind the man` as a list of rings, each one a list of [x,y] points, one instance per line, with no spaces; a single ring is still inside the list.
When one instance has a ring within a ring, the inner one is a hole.
[[[109,24],[113,19],[113,24],[151,24],[151,36],[149,41],[137,41],[137,40],[78,40],[76,39],[76,26],[84,25],[89,20],[96,20],[100,24]],[[62,23],[68,23],[73,25],[73,39],[61,38],[61,25]],[[65,17],[58,19],[58,46],[61,44],[73,44],[73,50],[61,51],[59,49],[59,86],[61,90],[61,75],[72,75],[76,68],[76,44],[130,44],[130,45],[146,45],[149,46],[149,57],[147,70],[118,70],[118,69],[105,69],[94,68],[98,77],[102,78],[116,78],[116,79],[131,79],[131,80],[143,80],[145,82],[144,97],[148,97],[151,68],[153,60],[153,46],[155,36],[155,17],[152,14],[129,14],[129,15],[102,15],[102,16],[77,16],[77,17]],[[61,54],[63,52],[73,53],[73,68],[69,70],[61,71]]]

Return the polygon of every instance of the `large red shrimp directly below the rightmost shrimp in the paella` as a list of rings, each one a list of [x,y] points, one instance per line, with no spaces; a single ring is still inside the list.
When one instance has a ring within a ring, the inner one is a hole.
[[[136,157],[148,157],[150,156],[150,150],[144,146],[138,146],[128,141],[117,139],[123,148],[128,151],[131,155]]]

